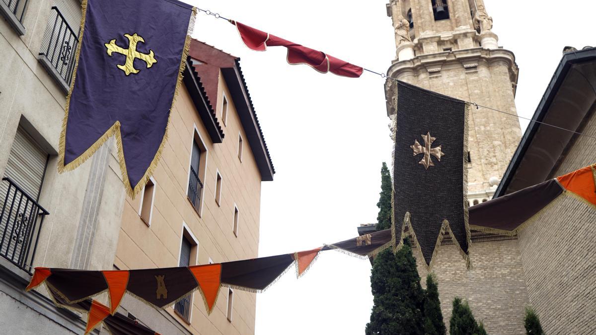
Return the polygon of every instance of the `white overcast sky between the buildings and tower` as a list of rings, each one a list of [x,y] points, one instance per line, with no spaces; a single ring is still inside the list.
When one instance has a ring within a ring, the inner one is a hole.
[[[386,0],[185,1],[377,72],[395,58]],[[563,46],[596,45],[596,4],[485,5],[499,45],[515,53],[520,67],[518,113],[532,117]],[[391,153],[384,80],[290,66],[285,48],[252,51],[234,26],[201,13],[194,38],[241,57],[277,170],[274,181],[263,183],[259,256],[342,241],[355,237],[358,225],[375,222],[381,162],[389,163]],[[373,306],[370,268],[368,260],[330,251],[300,280],[288,272],[257,295],[256,334],[362,334]]]

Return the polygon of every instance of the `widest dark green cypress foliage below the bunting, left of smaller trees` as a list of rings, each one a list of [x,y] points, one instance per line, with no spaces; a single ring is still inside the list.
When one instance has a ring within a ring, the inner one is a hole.
[[[367,335],[424,334],[424,293],[408,240],[395,255],[387,249],[375,257],[371,289],[374,306]]]

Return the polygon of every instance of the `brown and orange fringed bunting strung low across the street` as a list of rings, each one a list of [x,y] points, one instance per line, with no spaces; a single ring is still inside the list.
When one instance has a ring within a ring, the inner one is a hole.
[[[472,206],[469,210],[470,227],[493,234],[515,235],[526,222],[563,196],[573,196],[592,207],[596,206],[596,165]],[[400,238],[396,241],[395,229],[373,232],[312,250],[209,265],[129,271],[40,267],[35,268],[26,290],[46,283],[56,305],[89,312],[88,331],[104,322],[112,334],[154,334],[148,328],[116,314],[126,291],[156,308],[166,308],[198,289],[210,313],[221,286],[262,292],[294,263],[297,276],[302,276],[319,252],[324,250],[339,250],[359,258],[369,258],[389,247],[398,249],[402,235],[412,232],[411,229],[407,232],[400,229]],[[109,294],[109,308],[89,299],[105,291]]]

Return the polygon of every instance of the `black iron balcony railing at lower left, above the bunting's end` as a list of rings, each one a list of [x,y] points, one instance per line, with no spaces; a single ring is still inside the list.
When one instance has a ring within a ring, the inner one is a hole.
[[[39,231],[49,213],[12,179],[2,178],[1,186],[0,256],[30,274]]]

